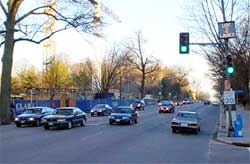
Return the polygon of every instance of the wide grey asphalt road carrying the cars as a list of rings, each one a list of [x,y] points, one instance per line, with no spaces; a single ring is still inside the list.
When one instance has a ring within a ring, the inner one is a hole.
[[[154,106],[140,112],[138,124],[108,124],[107,117],[88,117],[85,127],[44,130],[1,126],[0,163],[250,163],[249,150],[213,139],[219,107],[191,104],[201,132],[173,134],[176,113],[159,114]]]

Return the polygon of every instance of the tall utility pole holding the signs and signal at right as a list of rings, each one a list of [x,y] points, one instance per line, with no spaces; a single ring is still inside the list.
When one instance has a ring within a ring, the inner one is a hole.
[[[222,6],[223,21],[226,22],[224,0],[221,0],[221,6]],[[225,55],[226,55],[226,57],[229,55],[228,41],[229,41],[229,38],[225,38]],[[225,68],[226,68],[226,66],[225,66]],[[230,89],[231,89],[230,75],[228,75],[228,74],[226,75],[224,84],[227,84],[227,86],[230,86]],[[224,86],[224,91],[228,90],[227,86],[226,85]],[[229,117],[229,126],[228,126],[228,134],[227,134],[227,136],[231,137],[232,132],[233,132],[232,105],[231,104],[226,105],[226,109],[228,110],[228,117]]]

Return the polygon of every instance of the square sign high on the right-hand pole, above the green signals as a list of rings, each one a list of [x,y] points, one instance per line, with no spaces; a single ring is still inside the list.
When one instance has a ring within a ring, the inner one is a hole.
[[[234,21],[220,22],[218,23],[218,26],[219,26],[219,38],[220,39],[228,39],[228,38],[236,37]]]

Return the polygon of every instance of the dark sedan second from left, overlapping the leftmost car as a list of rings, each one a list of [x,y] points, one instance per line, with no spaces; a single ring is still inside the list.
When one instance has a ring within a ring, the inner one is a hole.
[[[77,107],[57,108],[53,115],[42,119],[44,129],[67,128],[71,129],[74,125],[85,126],[87,121],[86,113]]]

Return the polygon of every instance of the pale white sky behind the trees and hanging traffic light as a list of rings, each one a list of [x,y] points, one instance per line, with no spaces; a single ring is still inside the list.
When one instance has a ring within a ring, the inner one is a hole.
[[[205,58],[193,51],[197,48],[190,46],[190,53],[179,54],[179,33],[187,32],[184,23],[186,10],[183,8],[186,0],[101,0],[103,4],[119,16],[121,23],[117,23],[109,16],[107,26],[103,29],[104,38],[99,40],[101,51],[105,51],[115,42],[134,37],[135,31],[142,30],[147,40],[147,52],[160,59],[166,66],[182,66],[190,70],[189,79],[196,80],[201,89],[212,96],[212,82],[209,80],[208,64]],[[192,31],[190,32],[190,42]],[[91,57],[97,46],[96,39],[88,34],[79,34],[74,30],[64,31],[55,36],[57,54],[66,54],[72,62],[79,62]],[[0,55],[3,49],[0,48]],[[14,50],[13,71],[32,64],[37,68],[43,66],[42,45],[19,42]]]

